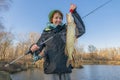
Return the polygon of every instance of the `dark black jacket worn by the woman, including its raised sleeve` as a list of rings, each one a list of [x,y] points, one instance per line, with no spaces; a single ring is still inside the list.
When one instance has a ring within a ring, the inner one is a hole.
[[[76,23],[76,37],[80,37],[85,33],[85,26],[81,17],[76,11],[72,13]],[[68,57],[65,55],[65,44],[66,44],[66,24],[63,26],[58,25],[55,29],[49,31],[43,31],[37,45],[41,48],[45,48],[45,61],[44,61],[44,72],[46,74],[54,73],[71,73],[71,67],[66,67]],[[52,38],[46,43],[42,44],[45,40]]]

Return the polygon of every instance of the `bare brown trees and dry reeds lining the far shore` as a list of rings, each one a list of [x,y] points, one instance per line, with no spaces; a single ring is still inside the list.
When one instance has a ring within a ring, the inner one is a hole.
[[[18,36],[19,38],[15,40],[15,36],[11,32],[0,32],[0,61],[11,61],[25,54],[29,47],[39,39],[40,34],[31,32]],[[78,45],[74,58],[78,62],[120,61],[120,48],[97,49],[94,45],[89,45],[86,52],[84,46]],[[20,60],[22,63],[29,62],[31,56],[25,56],[22,60]]]

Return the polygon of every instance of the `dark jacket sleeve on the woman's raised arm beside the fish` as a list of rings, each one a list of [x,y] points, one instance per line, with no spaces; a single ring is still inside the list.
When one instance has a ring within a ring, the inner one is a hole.
[[[85,25],[76,10],[72,13],[72,16],[76,24],[76,37],[78,38],[85,33]]]

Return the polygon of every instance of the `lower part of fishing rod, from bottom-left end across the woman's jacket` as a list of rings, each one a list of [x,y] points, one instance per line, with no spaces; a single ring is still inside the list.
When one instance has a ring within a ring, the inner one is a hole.
[[[55,35],[51,36],[50,38],[48,38],[47,40],[45,40],[44,42],[42,42],[42,43],[40,44],[40,46],[43,45],[44,43],[48,42],[49,40],[51,40],[54,36],[55,36]],[[38,51],[39,51],[39,49],[38,49]],[[29,51],[27,51],[25,54],[19,56],[19,57],[16,58],[15,60],[11,61],[10,63],[5,64],[4,67],[8,67],[10,64],[13,64],[13,63],[16,62],[17,60],[21,59],[22,57],[24,57],[25,55],[30,54],[30,53],[34,53],[34,52],[32,52],[31,50],[29,50]]]

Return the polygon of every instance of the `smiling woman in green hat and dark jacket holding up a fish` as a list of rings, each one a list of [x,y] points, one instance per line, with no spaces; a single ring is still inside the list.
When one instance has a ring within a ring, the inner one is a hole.
[[[78,38],[85,33],[85,26],[81,17],[76,11],[75,4],[70,5],[70,12],[72,13],[76,24],[76,38]],[[48,23],[47,27],[43,30],[38,42],[31,47],[33,52],[38,49],[42,51],[44,48],[45,60],[43,66],[45,80],[71,80],[70,73],[72,72],[72,67],[66,66],[68,57],[65,55],[67,25],[63,24],[62,20],[63,14],[61,11],[51,11],[49,13],[50,23]],[[43,54],[40,55],[43,56]]]

